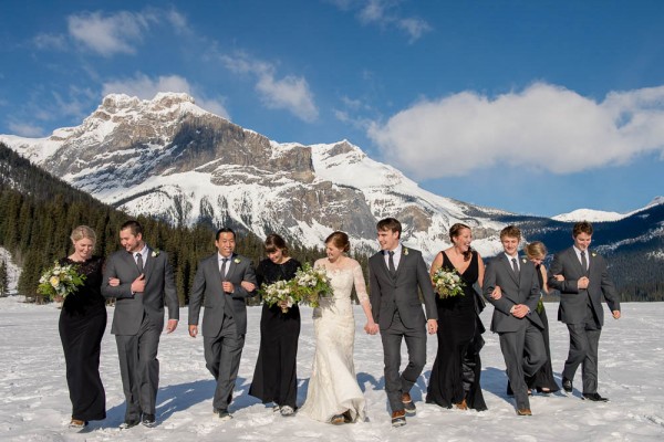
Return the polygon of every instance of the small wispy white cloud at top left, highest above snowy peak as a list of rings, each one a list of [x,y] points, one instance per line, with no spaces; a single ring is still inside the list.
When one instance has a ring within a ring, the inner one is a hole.
[[[127,11],[105,17],[101,12],[91,12],[68,18],[72,38],[104,56],[134,54],[135,44],[143,40],[143,33],[153,20],[155,17],[149,13]]]

